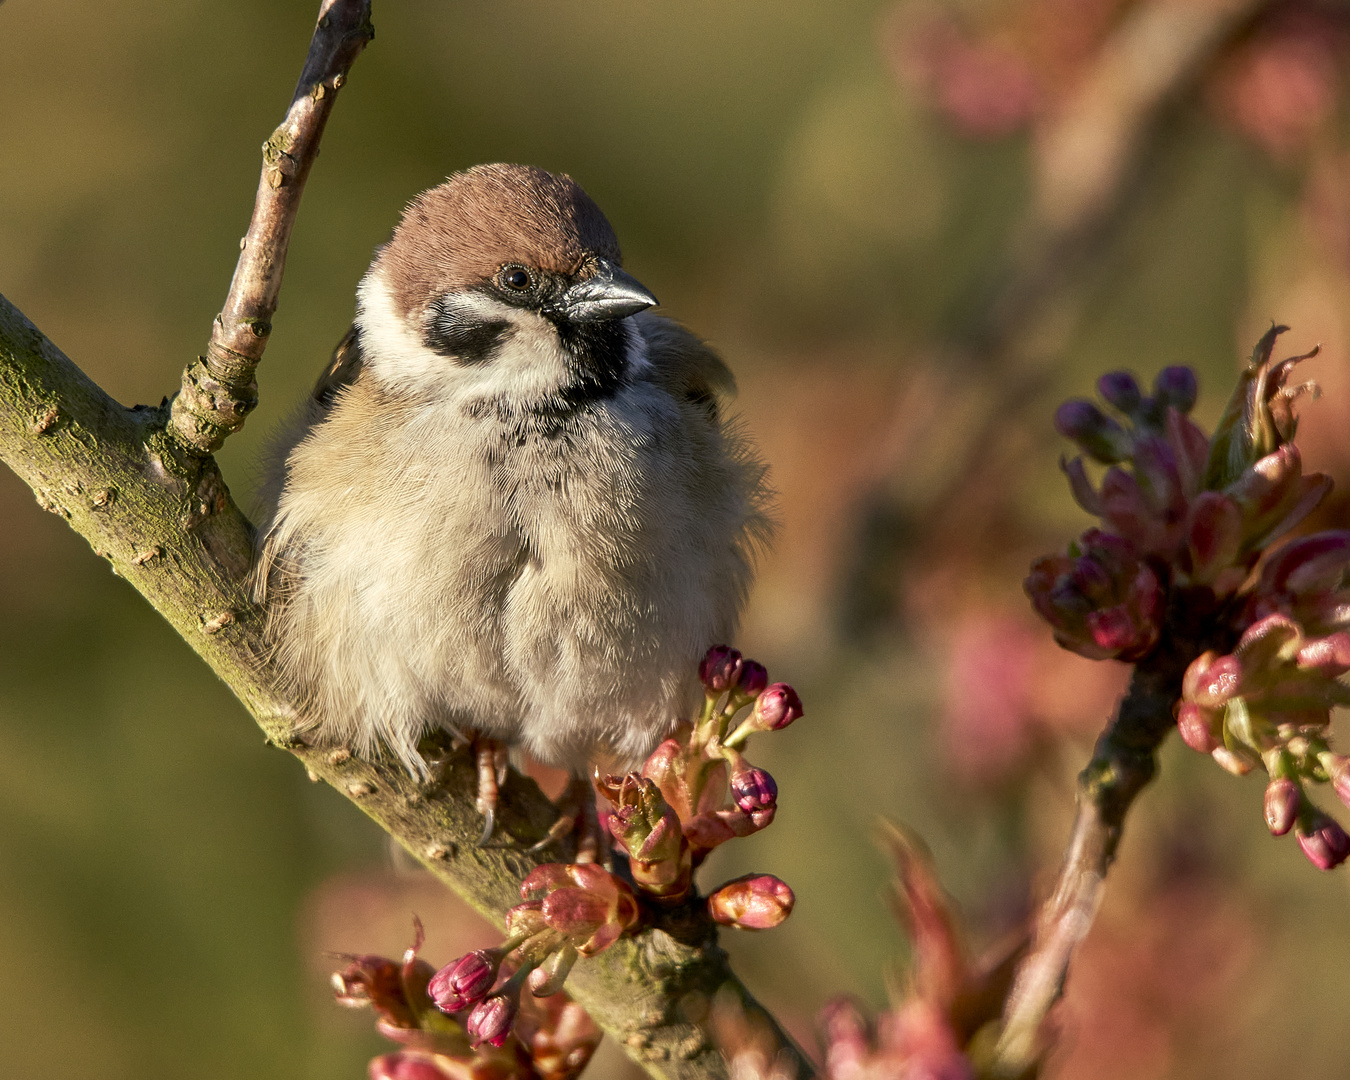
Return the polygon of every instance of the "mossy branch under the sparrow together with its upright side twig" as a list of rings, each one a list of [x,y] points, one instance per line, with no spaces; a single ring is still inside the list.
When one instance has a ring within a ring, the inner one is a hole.
[[[286,120],[269,139],[252,224],[205,358],[173,404],[124,408],[96,386],[0,296],[0,460],[63,517],[197,651],[254,716],[270,745],[293,753],[310,779],[355,802],[437,879],[504,923],[518,882],[556,811],[512,774],[498,845],[477,845],[477,772],[467,748],[429,740],[436,776],[418,784],[392,760],[319,749],[294,732],[294,703],[266,663],[262,613],[244,590],[254,528],[230,497],[211,451],[252,406],[252,373],[266,346],[290,224],[333,93],[370,39],[369,0],[324,0]],[[275,181],[279,177],[279,181]],[[799,1077],[814,1072],[782,1026],[730,971],[706,913],[690,905],[579,964],[568,991],[652,1076],[726,1076],[705,1034],[707,1003],[730,994],[757,1015]]]

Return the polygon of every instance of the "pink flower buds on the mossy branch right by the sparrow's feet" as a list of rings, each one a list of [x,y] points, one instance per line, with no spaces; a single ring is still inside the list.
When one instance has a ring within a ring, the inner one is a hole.
[[[598,863],[536,867],[521,882],[522,902],[506,915],[506,940],[429,977],[431,1000],[446,1014],[466,1015],[473,1045],[506,1045],[522,990],[545,998],[562,991],[579,957],[605,952],[639,923],[643,903],[684,903],[694,869],[713,848],[774,821],[778,784],[741,748],[755,732],[779,730],[802,716],[796,691],[770,686],[763,664],[725,645],[709,649],[699,679],[698,720],[680,725],[640,772],[597,782],[610,803],[602,821],[628,856],[628,880]],[[752,873],[717,888],[707,911],[724,926],[767,930],[792,903],[787,884]]]

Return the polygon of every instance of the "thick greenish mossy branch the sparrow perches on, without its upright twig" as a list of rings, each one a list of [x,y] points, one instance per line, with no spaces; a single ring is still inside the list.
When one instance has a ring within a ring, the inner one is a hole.
[[[528,848],[556,818],[533,780],[512,774],[498,840],[479,848],[477,776],[467,748],[423,745],[436,779],[418,784],[392,760],[364,761],[344,748],[308,745],[296,709],[273,684],[261,612],[243,578],[252,526],[230,497],[212,458],[178,447],[165,409],[127,409],[90,382],[0,296],[0,459],[173,624],[252,713],[267,740],[298,757],[355,802],[432,873],[502,925],[520,902],[521,878],[568,853]],[[671,1080],[724,1077],[705,1035],[718,990],[749,999],[717,945],[711,922],[691,907],[579,964],[568,991],[649,1073]],[[765,1014],[767,1015],[767,1014]],[[782,1052],[813,1072],[771,1021]]]

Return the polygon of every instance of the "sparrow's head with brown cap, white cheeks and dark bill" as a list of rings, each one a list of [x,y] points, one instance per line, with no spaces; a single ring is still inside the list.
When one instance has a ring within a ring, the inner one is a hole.
[[[366,367],[390,390],[521,410],[612,394],[657,301],[571,177],[481,165],[417,196],[358,293]]]

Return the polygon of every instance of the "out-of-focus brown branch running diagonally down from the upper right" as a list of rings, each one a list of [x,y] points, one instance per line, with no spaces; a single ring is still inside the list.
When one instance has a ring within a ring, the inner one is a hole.
[[[964,402],[973,414],[956,431],[946,409],[898,405],[860,508],[842,585],[846,633],[867,634],[895,614],[900,571],[919,524],[930,531],[934,518],[960,502],[953,493],[987,471],[988,447],[1045,378],[1045,359],[1025,354],[1049,301],[1080,274],[1123,216],[1164,117],[1215,53],[1269,3],[1135,5],[1075,94],[1046,122],[1035,139],[1035,190],[1026,219],[915,375],[921,397]],[[936,444],[942,455],[923,452]]]

